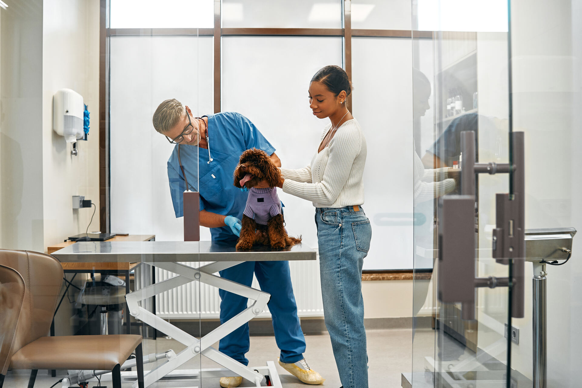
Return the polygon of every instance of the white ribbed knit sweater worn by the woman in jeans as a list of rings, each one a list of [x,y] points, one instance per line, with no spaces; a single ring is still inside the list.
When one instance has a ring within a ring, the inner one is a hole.
[[[331,128],[325,127],[321,140]],[[318,144],[319,148],[319,144]],[[299,170],[281,169],[283,191],[312,201],[316,208],[343,208],[364,204],[364,134],[356,119],[343,123],[328,147],[315,153],[311,164]]]

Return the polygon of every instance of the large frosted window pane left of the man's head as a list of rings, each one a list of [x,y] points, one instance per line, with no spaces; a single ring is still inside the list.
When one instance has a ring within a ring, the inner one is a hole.
[[[158,105],[176,98],[212,113],[212,37],[111,38],[111,231],[183,240],[166,163],[173,145],[152,126]],[[201,239],[210,240],[201,228]]]

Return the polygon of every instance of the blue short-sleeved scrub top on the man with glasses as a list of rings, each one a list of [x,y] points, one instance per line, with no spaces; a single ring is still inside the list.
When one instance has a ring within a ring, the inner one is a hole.
[[[194,145],[180,147],[180,159],[190,190],[200,192],[200,210],[221,215],[235,216],[242,219],[248,193],[234,186],[234,172],[239,164],[240,154],[246,149],[258,148],[272,155],[275,148],[262,136],[253,123],[240,113],[222,112],[208,115],[208,149]],[[200,176],[200,180],[198,180]],[[182,196],[186,182],[178,163],[178,145],[168,159],[168,179],[170,194],[176,218],[182,217]],[[200,184],[200,190],[198,190]],[[212,241],[236,240],[230,227],[213,227],[210,229]]]

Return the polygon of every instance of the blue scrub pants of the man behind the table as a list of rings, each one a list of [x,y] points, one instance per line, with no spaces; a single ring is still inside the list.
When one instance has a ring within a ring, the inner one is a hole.
[[[292,364],[299,361],[305,351],[305,337],[297,316],[289,262],[247,261],[222,270],[220,276],[250,287],[253,283],[253,272],[257,276],[261,290],[271,294],[271,300],[267,305],[272,316],[275,341],[281,350],[281,362]],[[247,308],[248,298],[224,290],[219,290],[218,293],[221,297],[221,323]],[[228,334],[219,344],[222,353],[244,365],[249,365],[249,360],[244,357],[249,348],[249,323]]]

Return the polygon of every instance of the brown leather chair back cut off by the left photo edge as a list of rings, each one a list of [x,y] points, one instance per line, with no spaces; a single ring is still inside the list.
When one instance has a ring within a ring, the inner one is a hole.
[[[10,349],[24,300],[24,280],[12,268],[0,265],[0,386],[8,371]]]

